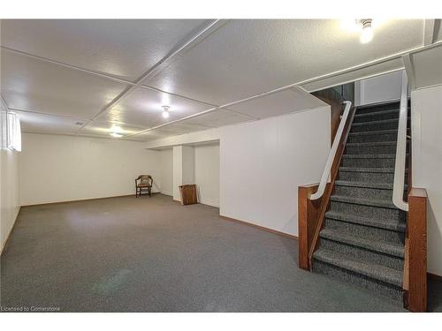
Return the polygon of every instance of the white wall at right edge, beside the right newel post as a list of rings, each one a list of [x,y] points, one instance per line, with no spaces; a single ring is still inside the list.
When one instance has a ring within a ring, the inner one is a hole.
[[[413,186],[427,190],[428,271],[442,275],[442,87],[412,92]]]

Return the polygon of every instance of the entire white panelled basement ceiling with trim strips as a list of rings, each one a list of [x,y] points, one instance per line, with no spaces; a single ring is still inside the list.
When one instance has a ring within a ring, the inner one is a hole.
[[[361,44],[338,19],[2,20],[0,92],[25,132],[147,141],[317,107],[311,91],[403,68],[424,27]]]

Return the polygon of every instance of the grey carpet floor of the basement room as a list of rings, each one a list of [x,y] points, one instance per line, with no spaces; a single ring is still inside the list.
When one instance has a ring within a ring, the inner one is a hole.
[[[62,312],[404,312],[297,266],[297,241],[171,197],[21,208],[1,258],[3,307]],[[442,312],[442,282],[429,284]]]

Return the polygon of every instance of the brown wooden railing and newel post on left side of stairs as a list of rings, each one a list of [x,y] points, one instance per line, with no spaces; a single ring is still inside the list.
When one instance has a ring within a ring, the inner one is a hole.
[[[333,89],[315,93],[317,98],[331,105],[331,143],[337,132],[340,115],[343,111],[342,96]],[[311,270],[313,267],[312,257],[319,244],[319,232],[324,226],[325,213],[330,207],[330,197],[334,183],[338,177],[339,164],[344,154],[348,133],[353,124],[355,109],[351,108],[347,117],[347,123],[339,140],[339,147],[331,165],[331,182],[327,183],[321,198],[311,200],[310,196],[316,192],[318,184],[307,184],[298,187],[298,240],[299,240],[299,267]]]

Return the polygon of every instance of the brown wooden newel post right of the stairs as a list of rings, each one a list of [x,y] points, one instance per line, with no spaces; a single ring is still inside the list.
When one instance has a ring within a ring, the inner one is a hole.
[[[408,194],[405,237],[404,306],[427,310],[427,192],[413,187]]]

